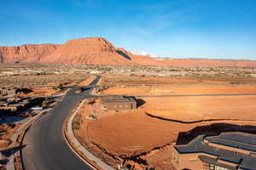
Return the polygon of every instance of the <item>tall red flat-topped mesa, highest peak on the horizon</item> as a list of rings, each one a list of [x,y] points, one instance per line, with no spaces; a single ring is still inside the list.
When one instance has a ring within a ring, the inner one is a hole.
[[[67,41],[55,53],[42,59],[44,63],[131,65],[130,57],[114,48],[102,37],[80,38]]]

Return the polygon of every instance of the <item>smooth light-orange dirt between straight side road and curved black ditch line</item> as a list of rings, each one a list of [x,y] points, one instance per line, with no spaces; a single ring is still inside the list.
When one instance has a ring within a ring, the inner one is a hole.
[[[144,98],[151,115],[183,122],[208,119],[255,120],[256,96]],[[155,106],[157,104],[157,107]]]

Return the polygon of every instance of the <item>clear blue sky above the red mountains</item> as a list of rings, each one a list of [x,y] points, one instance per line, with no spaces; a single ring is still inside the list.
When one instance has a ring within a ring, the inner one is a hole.
[[[9,0],[0,46],[105,37],[173,58],[256,59],[255,0]]]

